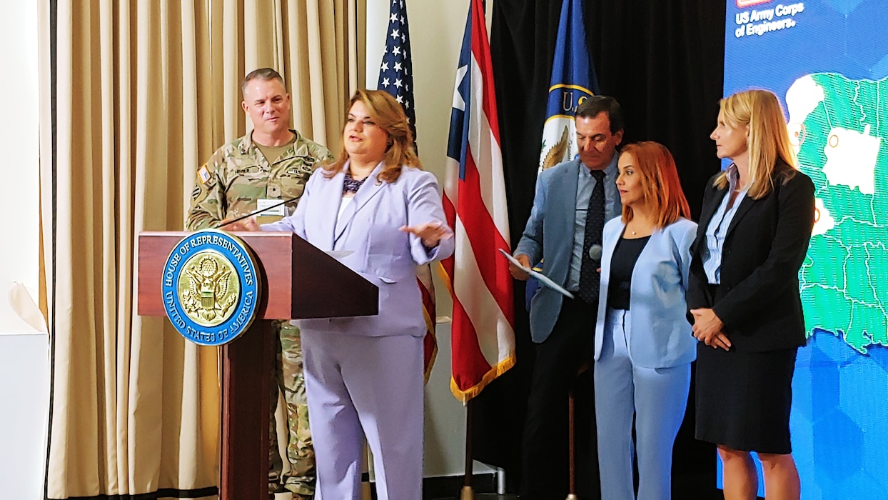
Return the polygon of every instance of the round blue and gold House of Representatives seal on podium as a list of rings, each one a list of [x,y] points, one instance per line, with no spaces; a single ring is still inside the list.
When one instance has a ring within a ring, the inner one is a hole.
[[[250,328],[261,290],[247,246],[215,229],[187,235],[163,266],[167,317],[195,344],[226,344]]]

